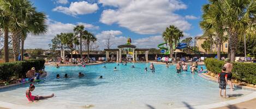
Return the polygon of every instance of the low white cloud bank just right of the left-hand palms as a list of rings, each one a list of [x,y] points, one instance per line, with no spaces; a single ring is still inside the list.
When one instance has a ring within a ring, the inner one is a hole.
[[[51,43],[51,40],[54,36],[61,33],[73,33],[73,29],[76,26],[76,24],[84,24],[86,29],[97,29],[98,26],[88,24],[88,23],[81,23],[78,22],[76,24],[72,23],[62,23],[57,22],[48,19],[46,21],[48,25],[48,30],[45,35],[40,36],[34,36],[34,35],[28,35],[27,39],[25,40],[25,48],[43,48],[43,49],[49,49],[48,44]]]

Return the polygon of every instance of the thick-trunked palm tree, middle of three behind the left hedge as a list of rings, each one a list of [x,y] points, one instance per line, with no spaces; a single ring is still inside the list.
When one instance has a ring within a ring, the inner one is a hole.
[[[0,4],[4,14],[9,17],[8,25],[12,33],[14,61],[16,61],[19,55],[22,30],[27,28],[27,20],[34,17],[35,8],[27,0],[3,0],[0,1]]]

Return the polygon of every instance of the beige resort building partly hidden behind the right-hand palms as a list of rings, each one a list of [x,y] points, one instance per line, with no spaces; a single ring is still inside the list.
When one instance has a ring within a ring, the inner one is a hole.
[[[201,53],[204,53],[204,54],[209,54],[209,53],[206,53],[206,50],[201,46],[201,44],[204,43],[204,41],[206,41],[209,37],[206,37],[206,36],[197,36],[195,37],[195,46],[198,47],[199,51]],[[214,37],[213,37],[214,38]],[[213,39],[215,40],[215,39]],[[218,46],[217,44],[212,44],[212,52],[215,53],[218,51]],[[222,45],[221,45],[221,52],[225,52],[225,53],[228,53],[228,41],[225,41]]]

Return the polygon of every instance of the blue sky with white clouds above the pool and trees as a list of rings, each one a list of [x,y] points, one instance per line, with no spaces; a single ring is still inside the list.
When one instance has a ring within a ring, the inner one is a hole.
[[[127,37],[138,48],[157,48],[169,25],[183,31],[185,37],[199,36],[201,6],[206,0],[31,0],[38,11],[47,15],[48,31],[29,35],[25,48],[49,49],[51,39],[60,33],[73,32],[82,24],[98,38],[104,49],[110,36],[111,48],[124,44]]]

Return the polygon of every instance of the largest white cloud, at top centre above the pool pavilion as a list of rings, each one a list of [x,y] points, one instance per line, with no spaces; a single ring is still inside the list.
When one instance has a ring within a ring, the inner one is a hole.
[[[187,6],[178,0],[100,0],[103,5],[117,7],[102,12],[100,22],[118,24],[120,27],[139,34],[159,34],[173,24],[181,30],[189,30],[189,24],[175,10],[186,9]]]

